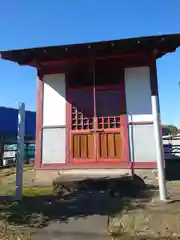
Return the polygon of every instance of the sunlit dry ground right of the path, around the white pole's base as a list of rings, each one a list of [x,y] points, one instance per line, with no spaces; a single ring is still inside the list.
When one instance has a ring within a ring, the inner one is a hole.
[[[115,239],[180,239],[180,182],[169,182],[168,189],[175,201],[162,203],[154,191],[151,201],[132,200],[123,211],[110,217],[110,235]]]

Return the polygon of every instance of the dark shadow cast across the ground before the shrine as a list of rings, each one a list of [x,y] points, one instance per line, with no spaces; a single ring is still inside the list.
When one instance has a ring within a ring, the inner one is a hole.
[[[86,179],[76,182],[56,183],[56,196],[24,197],[20,203],[1,200],[1,218],[9,223],[43,227],[52,220],[67,222],[70,217],[114,215],[133,199],[150,201],[153,186],[146,186],[135,176],[121,179]]]

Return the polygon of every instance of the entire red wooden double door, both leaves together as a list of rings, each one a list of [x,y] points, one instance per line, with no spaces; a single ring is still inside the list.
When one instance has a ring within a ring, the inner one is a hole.
[[[120,85],[71,89],[71,162],[122,160]]]

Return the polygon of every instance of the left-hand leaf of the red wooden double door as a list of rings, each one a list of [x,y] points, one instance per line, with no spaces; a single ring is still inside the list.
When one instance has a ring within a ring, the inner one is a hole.
[[[70,90],[71,98],[71,162],[95,162],[94,100],[93,89],[80,88]]]

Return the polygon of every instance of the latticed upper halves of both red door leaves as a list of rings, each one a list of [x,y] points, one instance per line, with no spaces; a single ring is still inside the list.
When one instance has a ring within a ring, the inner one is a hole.
[[[108,129],[120,127],[120,90],[96,90],[95,106],[93,89],[74,90],[72,93],[72,130]],[[94,116],[94,107],[96,116]],[[97,126],[94,119],[97,117]]]

